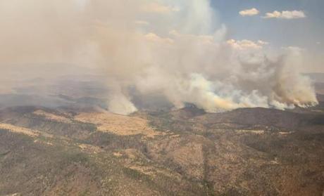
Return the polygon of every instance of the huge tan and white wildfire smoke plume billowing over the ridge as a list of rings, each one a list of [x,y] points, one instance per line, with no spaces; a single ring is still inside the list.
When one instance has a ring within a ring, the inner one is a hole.
[[[267,55],[266,42],[227,41],[208,0],[2,0],[0,21],[1,68],[94,67],[106,75],[111,112],[137,110],[130,86],[208,112],[318,103],[298,72],[302,51]]]

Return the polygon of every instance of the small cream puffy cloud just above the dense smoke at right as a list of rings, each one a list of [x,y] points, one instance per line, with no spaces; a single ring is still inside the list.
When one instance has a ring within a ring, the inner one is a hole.
[[[256,42],[243,39],[242,41],[230,39],[227,41],[227,43],[235,49],[238,50],[245,50],[245,49],[261,49],[264,45],[268,45],[269,43],[266,41],[258,40]]]

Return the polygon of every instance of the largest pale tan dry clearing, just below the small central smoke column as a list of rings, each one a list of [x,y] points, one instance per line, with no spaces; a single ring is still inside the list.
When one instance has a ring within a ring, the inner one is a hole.
[[[134,136],[142,134],[148,138],[161,135],[152,129],[147,119],[116,115],[110,112],[81,113],[75,120],[97,125],[98,131],[111,132],[119,136]]]

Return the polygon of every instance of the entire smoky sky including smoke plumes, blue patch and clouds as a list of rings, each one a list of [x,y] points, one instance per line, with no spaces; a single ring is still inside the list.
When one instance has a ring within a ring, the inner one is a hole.
[[[318,101],[300,73],[324,72],[320,8],[316,0],[0,0],[0,79],[22,85],[96,70],[108,109],[120,114],[137,110],[130,86],[209,112],[306,107]]]

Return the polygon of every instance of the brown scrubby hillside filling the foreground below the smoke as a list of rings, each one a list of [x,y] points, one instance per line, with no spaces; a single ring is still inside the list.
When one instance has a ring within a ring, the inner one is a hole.
[[[320,195],[323,119],[323,110],[9,107],[0,195]]]

